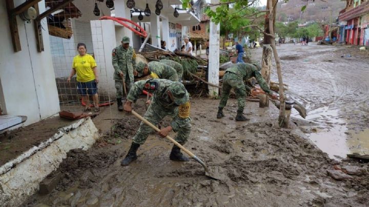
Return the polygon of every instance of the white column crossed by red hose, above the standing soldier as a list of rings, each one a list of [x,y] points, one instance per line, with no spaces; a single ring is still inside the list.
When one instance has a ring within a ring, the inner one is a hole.
[[[131,11],[130,9],[126,6],[126,2],[125,1],[114,1],[114,11],[115,11],[115,16],[116,17],[122,17],[122,18],[126,18],[126,19],[131,19]],[[119,24],[120,25],[120,24]],[[131,24],[128,24],[131,25]],[[130,42],[130,46],[133,47],[133,42],[132,42],[132,31],[124,26],[122,26],[121,28],[116,28],[116,42],[117,45],[120,44],[121,38],[123,36],[128,36],[131,40]]]

